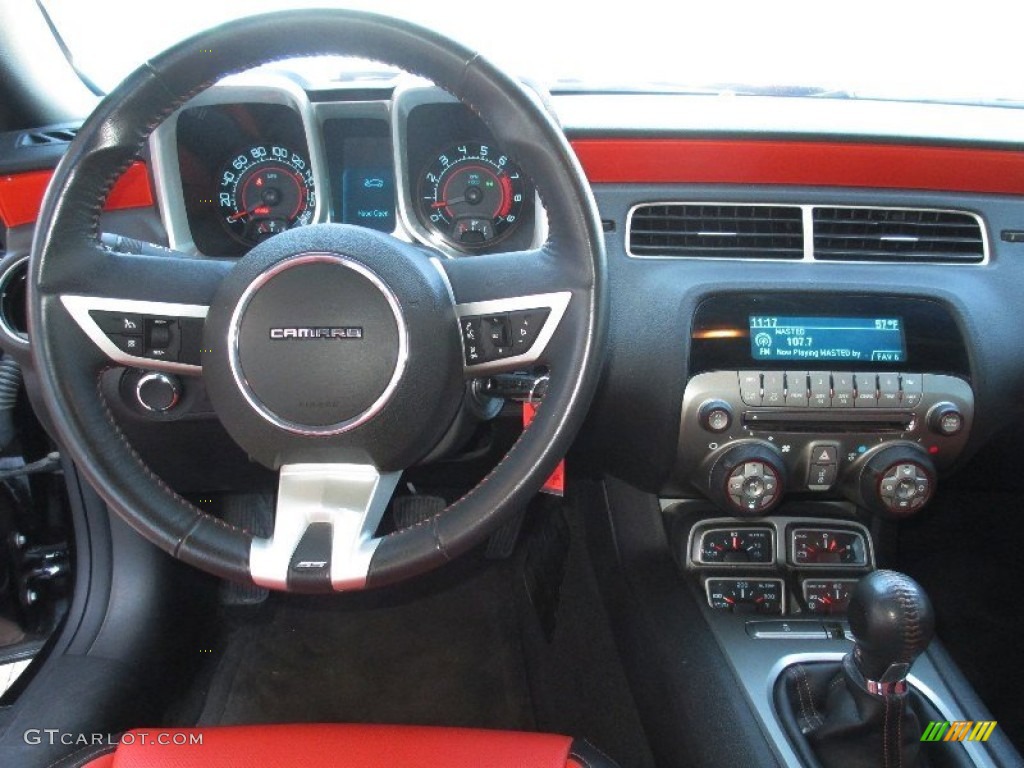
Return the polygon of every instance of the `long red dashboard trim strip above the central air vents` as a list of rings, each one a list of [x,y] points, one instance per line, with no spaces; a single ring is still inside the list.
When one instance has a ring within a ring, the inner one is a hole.
[[[799,184],[1024,195],[1024,153],[953,146],[579,138],[594,183]]]

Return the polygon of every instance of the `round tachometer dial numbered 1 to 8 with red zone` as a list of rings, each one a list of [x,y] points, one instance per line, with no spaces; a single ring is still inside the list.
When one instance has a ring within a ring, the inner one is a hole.
[[[527,184],[519,167],[494,146],[464,141],[434,156],[420,174],[424,224],[463,250],[511,234],[522,218]]]

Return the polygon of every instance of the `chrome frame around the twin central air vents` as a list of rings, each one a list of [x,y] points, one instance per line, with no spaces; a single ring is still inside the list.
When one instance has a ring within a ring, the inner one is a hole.
[[[685,184],[680,184],[680,186],[685,186]],[[671,256],[671,255],[657,255],[657,254],[636,254],[630,248],[630,237],[633,230],[633,215],[636,213],[637,209],[645,208],[647,206],[750,206],[752,208],[800,208],[802,211],[802,221],[804,226],[804,255],[799,259],[769,259],[764,257],[753,257],[753,258],[740,258],[737,256]],[[878,260],[878,261],[857,261],[854,259],[817,259],[814,257],[814,209],[815,208],[845,208],[845,209],[857,209],[865,211],[925,211],[928,213],[955,213],[963,216],[970,216],[978,223],[978,229],[981,232],[981,248],[982,248],[982,258],[980,261],[972,262],[943,262],[943,261],[928,261],[923,259],[920,262],[915,260]],[[626,255],[631,259],[679,259],[679,260],[691,260],[695,259],[697,261],[729,261],[729,262],[765,262],[771,264],[795,264],[795,263],[811,263],[811,264],[931,264],[938,266],[955,266],[955,267],[970,267],[970,266],[984,266],[989,262],[991,249],[989,247],[989,234],[988,228],[985,226],[985,220],[980,214],[974,211],[956,210],[952,208],[930,208],[928,206],[858,206],[858,205],[825,205],[820,203],[783,203],[783,202],[773,202],[773,203],[750,203],[741,201],[730,201],[730,200],[719,200],[719,201],[680,201],[680,200],[648,200],[643,203],[637,203],[633,205],[626,214],[626,234],[623,242],[623,246],[626,251]]]

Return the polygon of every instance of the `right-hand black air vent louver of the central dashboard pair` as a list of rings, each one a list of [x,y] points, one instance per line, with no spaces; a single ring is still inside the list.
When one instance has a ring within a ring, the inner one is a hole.
[[[814,258],[827,261],[978,262],[981,223],[968,213],[815,208]]]

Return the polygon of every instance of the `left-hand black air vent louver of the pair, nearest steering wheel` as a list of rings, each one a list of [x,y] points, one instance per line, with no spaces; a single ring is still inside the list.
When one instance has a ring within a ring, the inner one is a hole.
[[[635,256],[800,259],[804,225],[796,206],[654,204],[630,220]]]

